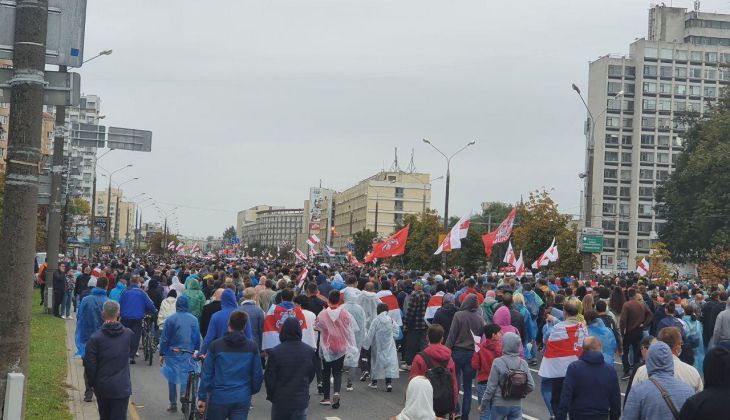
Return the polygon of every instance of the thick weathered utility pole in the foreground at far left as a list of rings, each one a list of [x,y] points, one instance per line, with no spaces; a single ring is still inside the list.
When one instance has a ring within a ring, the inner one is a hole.
[[[0,405],[8,373],[27,377],[35,253],[38,172],[43,123],[48,0],[18,0],[15,8],[10,130],[0,247]]]

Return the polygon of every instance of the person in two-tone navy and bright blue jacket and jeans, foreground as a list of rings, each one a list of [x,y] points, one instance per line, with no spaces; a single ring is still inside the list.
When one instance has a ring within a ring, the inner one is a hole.
[[[208,420],[247,420],[251,397],[261,390],[264,371],[259,350],[243,332],[247,318],[245,312],[233,311],[228,333],[213,341],[206,354],[198,410]]]

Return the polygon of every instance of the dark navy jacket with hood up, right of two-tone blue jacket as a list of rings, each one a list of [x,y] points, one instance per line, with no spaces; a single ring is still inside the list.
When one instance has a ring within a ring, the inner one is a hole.
[[[284,411],[301,411],[309,406],[309,384],[315,376],[317,353],[302,342],[296,318],[284,321],[279,340],[281,344],[267,350],[266,399]]]

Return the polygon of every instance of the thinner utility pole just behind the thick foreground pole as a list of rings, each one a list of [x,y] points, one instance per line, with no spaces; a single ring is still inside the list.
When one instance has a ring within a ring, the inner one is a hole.
[[[58,66],[65,73],[66,66]],[[66,141],[66,107],[56,106],[56,127],[53,136],[53,158],[51,161],[51,209],[48,215],[48,243],[46,244],[46,313],[52,313],[53,274],[58,270],[58,252],[61,242],[63,209],[61,186],[63,185],[63,147]],[[70,159],[69,159],[70,160]],[[68,188],[66,189],[68,195]],[[65,239],[65,238],[64,238]],[[58,304],[59,302],[55,302]]]

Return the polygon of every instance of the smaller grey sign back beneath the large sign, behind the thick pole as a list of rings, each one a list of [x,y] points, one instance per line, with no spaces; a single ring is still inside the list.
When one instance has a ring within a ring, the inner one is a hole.
[[[0,8],[1,12],[2,8]],[[12,78],[13,69],[0,68],[0,102],[10,102],[10,80]],[[43,91],[43,105],[78,106],[81,99],[81,75],[46,71],[44,78],[48,84]]]

